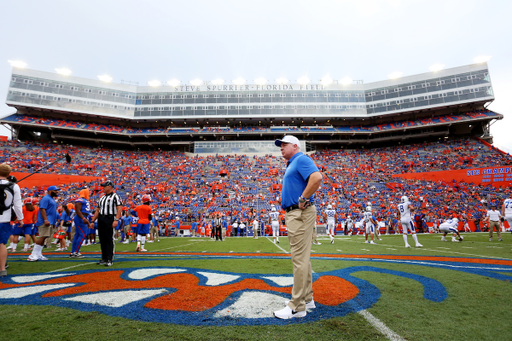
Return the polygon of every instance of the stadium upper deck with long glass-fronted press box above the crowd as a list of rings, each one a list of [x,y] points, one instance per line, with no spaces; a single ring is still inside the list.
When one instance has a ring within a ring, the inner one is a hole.
[[[240,135],[244,135],[244,140],[272,140],[289,131],[275,127],[285,126],[316,145],[367,145],[429,136],[485,135],[489,122],[501,119],[501,115],[494,113],[428,127],[402,123],[480,110],[493,99],[486,63],[369,84],[213,85],[203,82],[202,85],[159,87],[112,84],[15,68],[6,103],[17,109],[18,117],[83,124],[75,127],[34,125],[14,116],[0,122],[15,127],[15,135],[21,139],[30,139],[35,136],[30,133],[38,131],[49,139],[110,141],[133,146],[146,143],[187,145],[197,140],[237,140]],[[392,131],[366,129],[393,123],[398,125]],[[114,129],[92,133],[80,128],[91,124],[109,125]],[[316,126],[321,129],[304,130],[304,127]],[[171,129],[159,136],[137,137],[129,132],[164,127]],[[185,127],[192,131],[172,130]],[[208,127],[212,128],[211,134],[204,131]],[[340,127],[342,129],[338,129]],[[365,136],[354,138],[354,129],[345,127],[359,127],[355,130]],[[235,128],[239,128],[238,131],[234,131]],[[130,139],[113,138],[113,133],[128,135]]]

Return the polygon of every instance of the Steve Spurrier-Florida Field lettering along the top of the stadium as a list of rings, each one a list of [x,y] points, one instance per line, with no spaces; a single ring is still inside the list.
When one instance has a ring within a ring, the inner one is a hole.
[[[311,85],[207,85],[206,91],[294,91],[294,90],[324,90],[324,86],[320,84]],[[205,91],[202,86],[181,85],[175,86],[174,91],[177,92],[193,92]]]

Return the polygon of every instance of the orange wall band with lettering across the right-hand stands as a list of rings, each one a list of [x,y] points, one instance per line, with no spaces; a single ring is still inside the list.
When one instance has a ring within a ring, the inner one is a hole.
[[[394,178],[424,179],[430,181],[464,181],[474,184],[510,186],[512,184],[512,166],[471,168],[453,171],[395,174]]]

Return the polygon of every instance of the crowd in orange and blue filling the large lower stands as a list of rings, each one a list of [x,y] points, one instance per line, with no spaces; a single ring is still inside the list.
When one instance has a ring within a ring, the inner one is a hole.
[[[102,180],[112,180],[128,208],[150,194],[161,220],[200,221],[221,213],[228,223],[250,222],[255,215],[279,204],[285,163],[280,156],[186,156],[170,151],[123,151],[36,142],[1,142],[0,162],[15,172],[34,172],[59,160],[64,153],[72,162],[57,162],[45,173],[97,177],[98,180],[60,185],[60,200],[84,186],[93,205],[101,194]],[[460,214],[479,220],[487,204],[499,205],[511,197],[510,187],[465,182],[407,180],[395,174],[493,167],[512,164],[512,157],[478,140],[462,139],[372,150],[323,150],[312,158],[324,173],[316,205],[323,211],[333,205],[341,221],[358,219],[368,202],[380,221],[396,219],[396,205],[407,195],[427,221]],[[23,187],[23,183],[20,183]],[[42,197],[45,186],[22,188],[23,197]],[[319,223],[322,223],[319,215]]]

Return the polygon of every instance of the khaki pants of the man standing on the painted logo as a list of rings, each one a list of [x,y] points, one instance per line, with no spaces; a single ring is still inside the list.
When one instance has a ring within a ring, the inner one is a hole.
[[[286,213],[286,227],[293,263],[292,299],[288,306],[295,311],[306,310],[306,302],[313,299],[310,256],[315,222],[315,206]]]

